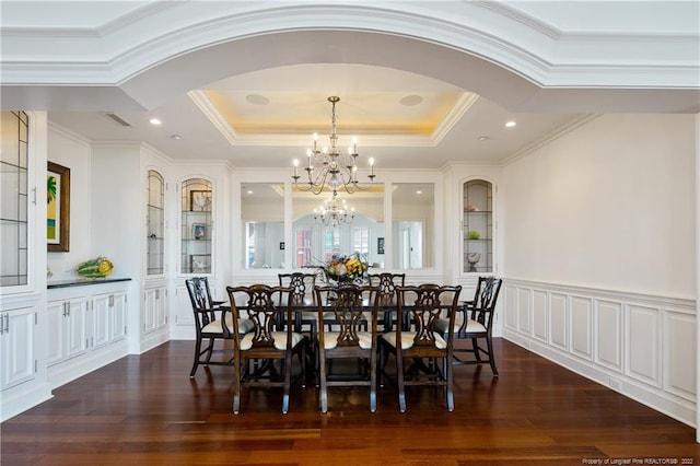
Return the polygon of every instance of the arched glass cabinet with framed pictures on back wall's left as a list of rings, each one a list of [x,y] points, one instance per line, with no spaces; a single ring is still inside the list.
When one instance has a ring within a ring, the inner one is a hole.
[[[180,186],[180,272],[211,273],[212,185],[190,178]]]

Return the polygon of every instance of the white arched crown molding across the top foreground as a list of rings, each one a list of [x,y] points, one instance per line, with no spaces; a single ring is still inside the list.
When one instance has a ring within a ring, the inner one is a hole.
[[[540,86],[697,89],[700,73],[700,34],[564,32],[502,2],[201,1],[154,2],[94,28],[3,27],[2,82],[116,85],[184,54],[313,30],[428,40],[500,63]],[[655,73],[668,79],[655,80]]]

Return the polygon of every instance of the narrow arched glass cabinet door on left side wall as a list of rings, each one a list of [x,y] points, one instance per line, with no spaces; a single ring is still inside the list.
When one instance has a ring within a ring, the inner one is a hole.
[[[154,170],[148,172],[148,200],[145,222],[148,228],[145,275],[162,275],[165,255],[165,182]]]

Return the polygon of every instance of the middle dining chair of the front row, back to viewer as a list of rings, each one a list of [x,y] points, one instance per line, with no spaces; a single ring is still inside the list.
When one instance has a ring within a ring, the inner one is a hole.
[[[350,284],[316,287],[314,292],[318,308],[320,411],[328,411],[329,386],[369,386],[370,411],[376,411],[378,289]],[[328,318],[332,319],[332,331],[324,325]],[[358,373],[332,374],[330,361],[336,359],[357,359]]]

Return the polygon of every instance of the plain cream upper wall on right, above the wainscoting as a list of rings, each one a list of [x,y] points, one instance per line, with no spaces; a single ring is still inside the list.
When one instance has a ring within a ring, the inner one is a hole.
[[[605,115],[504,168],[504,273],[695,299],[691,115]]]

